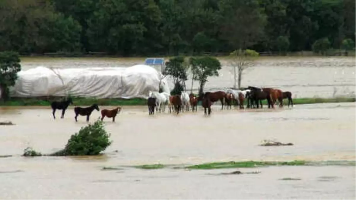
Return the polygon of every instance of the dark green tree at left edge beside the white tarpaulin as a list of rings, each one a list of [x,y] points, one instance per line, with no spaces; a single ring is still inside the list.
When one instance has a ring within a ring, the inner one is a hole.
[[[15,85],[17,72],[20,70],[20,58],[17,52],[0,52],[0,98],[3,101],[9,99],[9,87]]]

